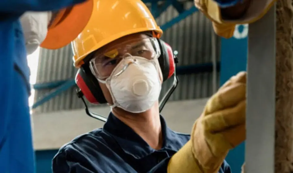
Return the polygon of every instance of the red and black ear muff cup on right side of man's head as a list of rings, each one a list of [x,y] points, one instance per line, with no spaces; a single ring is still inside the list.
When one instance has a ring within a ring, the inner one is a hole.
[[[160,39],[158,39],[158,42],[161,49],[161,55],[158,61],[162,70],[163,81],[166,81],[174,74],[175,70],[173,50],[166,42]]]

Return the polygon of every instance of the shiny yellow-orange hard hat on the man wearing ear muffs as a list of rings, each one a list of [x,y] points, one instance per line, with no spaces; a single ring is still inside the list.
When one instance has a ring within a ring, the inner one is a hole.
[[[163,33],[140,0],[94,0],[93,7],[88,24],[72,42],[76,68],[88,54],[118,38],[147,31],[160,38]]]

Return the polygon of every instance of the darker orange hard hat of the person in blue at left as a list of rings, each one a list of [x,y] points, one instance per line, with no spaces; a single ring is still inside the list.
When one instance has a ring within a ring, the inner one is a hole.
[[[46,49],[58,49],[69,44],[88,23],[92,9],[93,0],[87,0],[58,11],[40,46]]]

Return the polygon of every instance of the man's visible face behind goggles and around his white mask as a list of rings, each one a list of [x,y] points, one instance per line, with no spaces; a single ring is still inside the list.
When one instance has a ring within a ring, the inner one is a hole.
[[[163,77],[157,60],[157,52],[159,47],[156,46],[156,39],[150,38],[148,35],[137,33],[119,38],[105,47],[97,50],[91,63],[94,66],[96,78],[106,80],[113,72],[116,65],[126,56],[140,56],[149,60],[154,59],[158,66],[158,75],[162,83]],[[126,79],[127,80],[127,79]],[[106,84],[100,83],[101,90],[109,104],[113,104],[113,100]]]

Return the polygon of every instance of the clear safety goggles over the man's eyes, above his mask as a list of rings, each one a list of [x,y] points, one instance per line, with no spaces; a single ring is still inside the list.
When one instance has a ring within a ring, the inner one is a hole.
[[[147,60],[154,60],[160,55],[161,50],[156,38],[131,39],[105,50],[98,50],[90,60],[89,67],[97,79],[106,80],[117,64],[125,58],[140,56]]]

